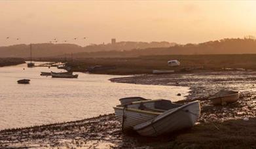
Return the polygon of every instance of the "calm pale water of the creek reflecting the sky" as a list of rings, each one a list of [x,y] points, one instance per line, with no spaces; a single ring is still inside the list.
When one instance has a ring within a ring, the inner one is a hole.
[[[23,70],[25,68],[25,70]],[[0,67],[0,129],[81,120],[113,113],[121,97],[184,99],[189,88],[120,84],[109,81],[119,76],[79,74],[79,78],[40,76],[41,71],[61,71],[54,67],[27,68],[26,64]],[[30,84],[17,84],[29,78]]]

